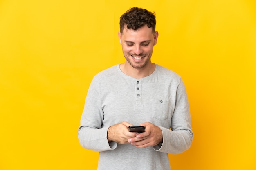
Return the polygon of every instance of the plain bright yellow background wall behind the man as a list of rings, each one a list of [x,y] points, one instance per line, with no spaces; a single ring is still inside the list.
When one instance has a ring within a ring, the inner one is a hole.
[[[256,169],[255,0],[1,0],[0,170],[97,168],[77,129],[93,76],[124,62],[134,6],[155,11],[152,60],[189,96],[195,137],[172,170]]]

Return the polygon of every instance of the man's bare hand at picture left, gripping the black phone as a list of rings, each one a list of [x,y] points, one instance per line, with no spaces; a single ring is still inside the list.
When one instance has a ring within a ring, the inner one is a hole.
[[[121,122],[108,128],[108,142],[114,141],[118,144],[127,144],[130,137],[136,137],[137,132],[129,132],[128,127],[133,126],[128,122]]]

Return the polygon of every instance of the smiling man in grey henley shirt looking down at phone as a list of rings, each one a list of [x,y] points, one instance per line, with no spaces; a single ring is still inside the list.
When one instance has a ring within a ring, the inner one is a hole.
[[[99,151],[99,170],[168,170],[168,153],[191,146],[189,104],[180,76],[151,62],[155,15],[131,8],[120,17],[125,63],[94,76],[79,127],[79,142]],[[145,126],[143,133],[128,126]]]

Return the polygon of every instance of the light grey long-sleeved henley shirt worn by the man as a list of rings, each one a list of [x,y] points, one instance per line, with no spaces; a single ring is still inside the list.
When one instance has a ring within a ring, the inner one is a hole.
[[[120,122],[159,126],[163,142],[136,148],[131,144],[108,143],[108,128]],[[121,72],[119,65],[94,76],[87,93],[79,126],[83,148],[99,151],[98,170],[168,170],[168,153],[191,146],[193,132],[189,103],[180,76],[162,66],[144,78]]]

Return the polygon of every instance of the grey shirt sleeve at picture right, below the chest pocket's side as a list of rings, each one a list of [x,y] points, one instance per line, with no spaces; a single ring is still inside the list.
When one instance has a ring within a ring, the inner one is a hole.
[[[171,154],[182,153],[189,149],[193,140],[191,116],[186,88],[180,79],[176,91],[176,103],[171,118],[171,129],[160,127],[163,142],[153,148],[160,152]]]

